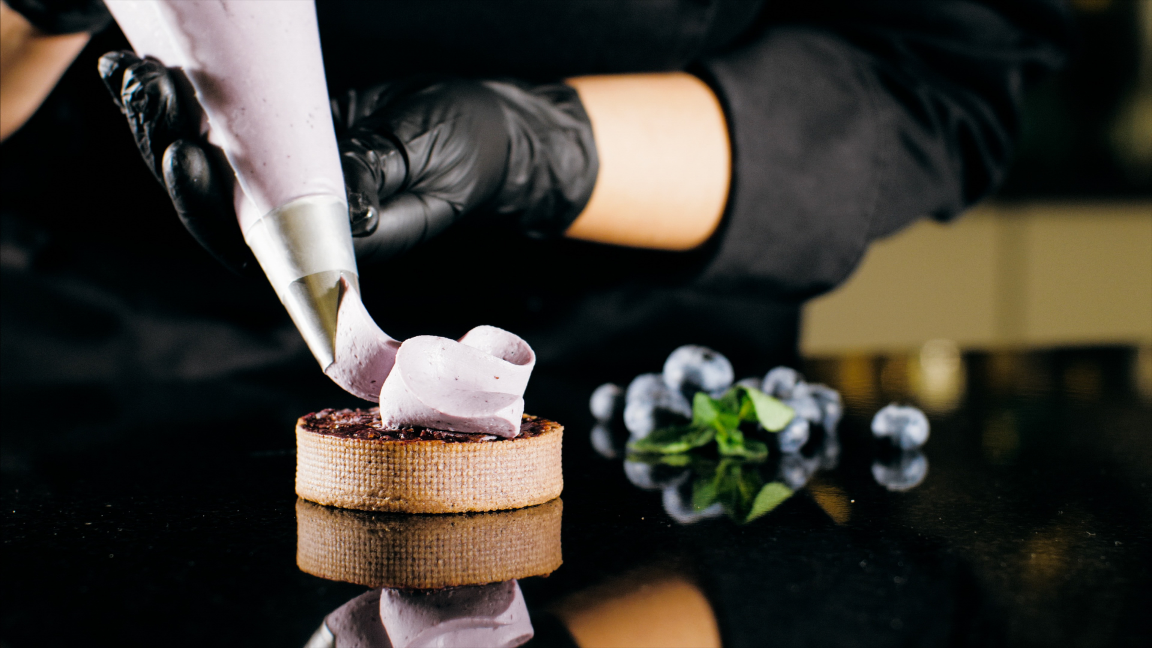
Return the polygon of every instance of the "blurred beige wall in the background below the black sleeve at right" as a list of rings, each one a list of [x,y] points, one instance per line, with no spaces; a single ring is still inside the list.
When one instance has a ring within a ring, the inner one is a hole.
[[[1152,344],[1152,203],[988,204],[876,243],[805,309],[805,355]]]

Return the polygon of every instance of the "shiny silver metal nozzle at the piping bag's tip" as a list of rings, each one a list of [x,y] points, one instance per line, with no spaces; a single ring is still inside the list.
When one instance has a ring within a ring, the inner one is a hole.
[[[306,196],[281,205],[244,234],[272,288],[312,355],[335,361],[340,279],[359,292],[348,205],[338,196]]]

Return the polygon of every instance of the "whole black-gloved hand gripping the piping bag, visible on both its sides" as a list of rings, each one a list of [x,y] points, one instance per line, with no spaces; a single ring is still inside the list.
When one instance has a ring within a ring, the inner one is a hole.
[[[199,134],[183,74],[129,52],[100,59],[141,155],[189,232],[225,265],[253,266],[234,175]],[[583,211],[599,168],[592,127],[563,84],[412,78],[333,100],[357,259],[396,256],[469,217],[553,236]]]

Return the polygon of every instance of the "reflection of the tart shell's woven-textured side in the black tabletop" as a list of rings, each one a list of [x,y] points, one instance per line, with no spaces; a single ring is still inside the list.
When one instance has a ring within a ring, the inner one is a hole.
[[[396,515],[296,500],[296,564],[366,587],[430,589],[552,573],[563,503],[494,513]]]

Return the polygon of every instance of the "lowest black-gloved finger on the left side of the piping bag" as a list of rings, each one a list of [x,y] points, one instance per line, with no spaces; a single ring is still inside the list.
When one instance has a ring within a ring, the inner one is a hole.
[[[164,153],[164,184],[180,221],[209,254],[237,274],[256,276],[259,265],[236,223],[232,175],[222,158],[219,151],[177,140]]]

